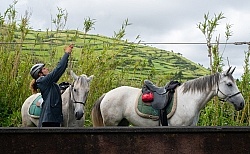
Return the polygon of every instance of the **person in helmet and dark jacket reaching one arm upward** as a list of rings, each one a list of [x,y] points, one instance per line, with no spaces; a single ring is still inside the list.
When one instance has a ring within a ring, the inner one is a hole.
[[[30,74],[35,80],[31,87],[40,90],[44,101],[39,118],[39,127],[60,127],[63,122],[62,98],[57,81],[67,68],[68,58],[72,49],[72,44],[65,47],[65,53],[62,59],[51,72],[49,72],[49,70],[44,67],[45,64],[42,63],[35,64],[30,69]]]

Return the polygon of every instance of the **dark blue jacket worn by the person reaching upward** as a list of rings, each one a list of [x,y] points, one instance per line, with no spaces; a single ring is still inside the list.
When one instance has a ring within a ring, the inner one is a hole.
[[[39,119],[39,127],[42,126],[43,122],[63,122],[62,98],[56,82],[67,68],[68,57],[69,54],[65,53],[53,71],[46,76],[41,76],[36,81],[37,88],[40,89],[44,101]]]

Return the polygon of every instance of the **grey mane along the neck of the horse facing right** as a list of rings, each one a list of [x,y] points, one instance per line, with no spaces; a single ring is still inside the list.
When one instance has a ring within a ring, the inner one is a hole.
[[[216,84],[220,79],[220,74],[216,73],[213,75],[203,76],[197,79],[189,80],[183,84],[183,93],[188,91],[203,92],[206,90],[211,90],[214,84]]]

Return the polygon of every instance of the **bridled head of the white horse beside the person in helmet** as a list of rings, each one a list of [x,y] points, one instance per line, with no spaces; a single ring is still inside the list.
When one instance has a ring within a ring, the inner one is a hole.
[[[70,71],[71,76],[74,78],[72,86],[70,86],[71,101],[74,103],[74,113],[77,120],[80,120],[84,115],[84,105],[87,100],[90,81],[93,75],[87,77],[85,74],[77,76],[73,71]]]

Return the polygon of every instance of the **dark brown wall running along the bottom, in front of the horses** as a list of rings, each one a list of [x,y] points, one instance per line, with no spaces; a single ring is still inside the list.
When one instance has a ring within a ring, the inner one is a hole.
[[[0,153],[247,154],[249,128],[0,128]]]

